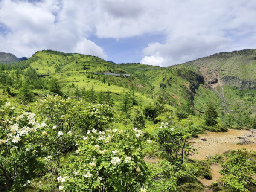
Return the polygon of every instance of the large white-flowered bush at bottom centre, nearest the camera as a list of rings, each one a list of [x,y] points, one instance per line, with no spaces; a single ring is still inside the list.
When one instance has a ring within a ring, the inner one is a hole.
[[[67,191],[139,191],[146,177],[142,131],[88,131],[76,155],[61,170],[59,189]]]

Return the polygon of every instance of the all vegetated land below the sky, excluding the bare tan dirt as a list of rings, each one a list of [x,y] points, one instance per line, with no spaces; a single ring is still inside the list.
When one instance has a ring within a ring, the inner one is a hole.
[[[255,58],[157,67],[43,50],[0,64],[0,191],[255,190],[255,151],[240,150],[255,148]],[[247,131],[238,151],[192,158],[200,134],[228,129]]]

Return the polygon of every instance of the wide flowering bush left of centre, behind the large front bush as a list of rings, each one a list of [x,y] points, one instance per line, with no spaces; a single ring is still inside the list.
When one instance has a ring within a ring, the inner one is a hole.
[[[36,102],[39,116],[47,117],[51,125],[58,131],[81,131],[87,133],[91,129],[103,131],[113,122],[113,110],[105,104],[87,104],[84,100],[63,99],[61,96],[47,96]]]

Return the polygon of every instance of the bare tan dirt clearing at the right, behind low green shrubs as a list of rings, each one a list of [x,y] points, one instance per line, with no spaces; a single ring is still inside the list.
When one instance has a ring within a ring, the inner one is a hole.
[[[253,135],[254,137],[247,137],[250,141],[256,142],[256,132],[248,130],[233,130],[229,129],[227,132],[209,132],[206,131],[206,134],[200,134],[199,138],[193,138],[190,140],[190,144],[193,148],[197,148],[198,154],[190,156],[192,159],[202,160],[207,155],[216,155],[223,154],[228,150],[237,150],[241,148],[247,148],[247,150],[256,151],[256,144],[247,144],[247,145],[237,145],[241,142],[241,139],[237,138],[239,136]],[[200,140],[201,137],[204,137],[206,141]]]

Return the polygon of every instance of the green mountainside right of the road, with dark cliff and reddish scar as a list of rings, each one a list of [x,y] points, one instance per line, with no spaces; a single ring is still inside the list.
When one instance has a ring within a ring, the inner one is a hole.
[[[221,52],[163,68],[120,66],[152,84],[154,94],[163,95],[171,105],[184,106],[191,99],[194,109],[204,113],[207,103],[214,102],[222,118],[229,116],[241,126],[256,115],[256,49]]]

